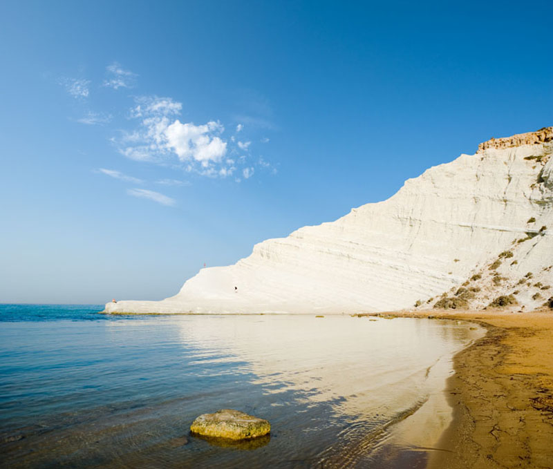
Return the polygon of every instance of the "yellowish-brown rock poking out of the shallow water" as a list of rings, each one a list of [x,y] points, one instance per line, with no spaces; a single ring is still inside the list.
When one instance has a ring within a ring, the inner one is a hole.
[[[203,437],[243,440],[263,437],[271,431],[271,425],[239,410],[223,409],[214,414],[200,415],[192,422],[190,430]]]

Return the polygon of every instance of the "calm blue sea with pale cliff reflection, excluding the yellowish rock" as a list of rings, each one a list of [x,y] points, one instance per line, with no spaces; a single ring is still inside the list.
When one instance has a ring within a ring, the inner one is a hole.
[[[428,319],[101,309],[0,305],[1,468],[424,467],[393,428],[422,409],[447,423],[451,356],[481,335]],[[189,434],[222,408],[268,419],[270,437]]]

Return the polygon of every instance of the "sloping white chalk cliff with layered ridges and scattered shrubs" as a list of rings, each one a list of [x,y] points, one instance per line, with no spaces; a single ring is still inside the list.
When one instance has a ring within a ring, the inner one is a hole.
[[[502,295],[540,307],[553,296],[552,140],[552,127],[492,139],[384,202],[202,269],[176,296],[106,312],[383,312],[449,296],[465,301],[450,306],[485,307]]]

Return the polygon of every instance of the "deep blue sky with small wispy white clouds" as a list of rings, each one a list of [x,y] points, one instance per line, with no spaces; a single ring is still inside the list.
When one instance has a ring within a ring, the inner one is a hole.
[[[553,3],[0,3],[0,303],[204,263],[553,125]]]

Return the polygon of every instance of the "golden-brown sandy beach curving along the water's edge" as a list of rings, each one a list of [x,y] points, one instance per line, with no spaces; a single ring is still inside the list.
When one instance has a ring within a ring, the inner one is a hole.
[[[453,359],[453,423],[429,468],[553,468],[553,312],[413,312],[471,320],[487,335]]]

